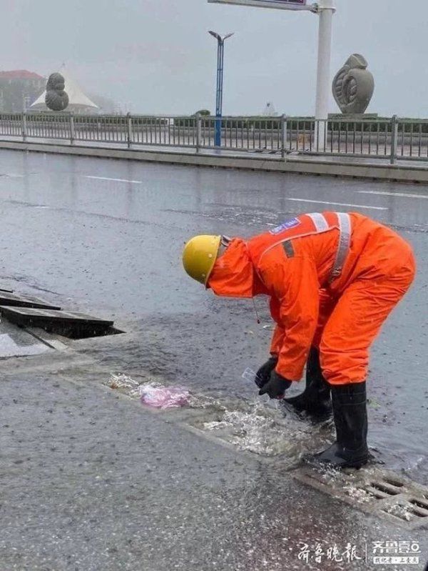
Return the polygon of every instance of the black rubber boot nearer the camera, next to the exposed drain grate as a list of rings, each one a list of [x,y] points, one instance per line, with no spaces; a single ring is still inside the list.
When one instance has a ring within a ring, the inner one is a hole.
[[[332,404],[336,442],[312,458],[335,468],[360,468],[369,460],[365,382],[332,385]]]

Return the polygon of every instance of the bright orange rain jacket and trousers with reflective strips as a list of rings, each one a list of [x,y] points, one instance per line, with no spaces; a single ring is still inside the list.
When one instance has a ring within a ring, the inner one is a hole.
[[[300,380],[311,344],[332,384],[362,382],[368,351],[412,283],[412,249],[398,234],[350,213],[350,241],[332,276],[340,241],[335,212],[302,214],[248,241],[234,238],[215,262],[208,287],[220,296],[270,296],[276,370]]]

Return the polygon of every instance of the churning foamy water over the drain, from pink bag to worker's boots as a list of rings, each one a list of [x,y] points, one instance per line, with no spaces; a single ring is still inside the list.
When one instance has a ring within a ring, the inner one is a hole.
[[[154,376],[137,380],[126,374],[111,375],[103,384],[126,397],[140,399],[146,409],[165,414],[171,422],[191,432],[234,450],[257,455],[263,462],[280,462],[284,470],[295,467],[300,454],[308,447],[326,445],[330,437],[327,423],[314,427],[296,415],[285,416],[278,403],[208,397],[185,387],[170,387]],[[172,406],[166,403],[163,408],[161,401],[168,398],[170,391],[178,400],[172,402]]]

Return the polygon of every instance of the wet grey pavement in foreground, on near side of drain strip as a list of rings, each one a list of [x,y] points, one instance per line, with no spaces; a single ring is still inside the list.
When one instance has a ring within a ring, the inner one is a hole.
[[[180,410],[151,412],[105,387],[127,358],[121,337],[2,363],[1,570],[423,569],[426,531],[364,514],[297,482],[281,457],[221,445]],[[116,344],[117,362],[104,362]],[[128,345],[132,361],[138,337]],[[394,540],[419,542],[421,564],[373,565],[373,542]],[[317,547],[331,558],[317,562]]]

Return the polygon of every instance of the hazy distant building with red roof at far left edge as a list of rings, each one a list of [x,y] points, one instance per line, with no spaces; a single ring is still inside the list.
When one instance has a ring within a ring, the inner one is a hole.
[[[0,71],[0,112],[21,113],[44,91],[46,78],[26,69]]]

